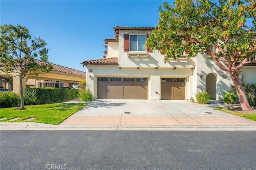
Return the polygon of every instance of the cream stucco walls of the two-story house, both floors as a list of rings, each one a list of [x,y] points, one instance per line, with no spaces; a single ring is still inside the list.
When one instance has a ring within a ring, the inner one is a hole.
[[[146,35],[150,33],[151,31],[120,30],[119,42],[108,43],[107,55],[107,57],[119,57],[118,65],[87,66],[86,86],[93,91],[95,97],[97,97],[97,77],[148,77],[148,99],[150,100],[161,99],[161,78],[179,77],[186,78],[185,99],[189,100],[191,97],[195,98],[198,91],[206,90],[206,76],[212,73],[216,78],[216,99],[222,100],[223,92],[228,91],[233,83],[229,73],[220,70],[215,61],[208,60],[206,55],[198,53],[197,57],[188,58],[188,55],[184,54],[182,58],[168,59],[166,63],[164,63],[164,55],[157,50],[148,52],[148,57],[128,57],[129,52],[124,51],[124,34]],[[174,67],[176,69],[173,69]],[[92,72],[89,73],[88,69],[92,69]],[[256,83],[255,66],[244,66],[241,71],[246,83]],[[226,78],[222,78],[222,75]],[[156,91],[158,94],[155,93]]]

